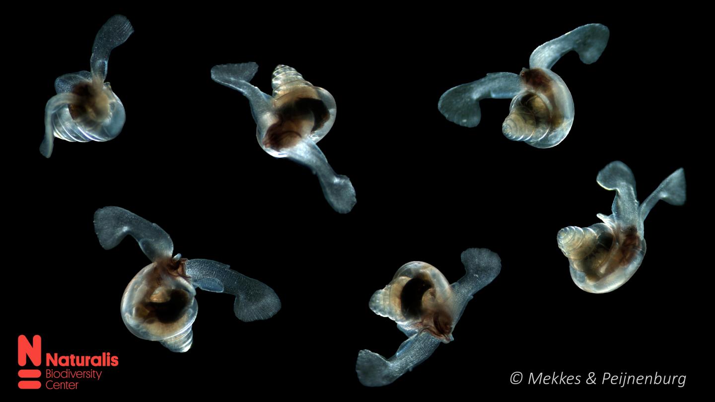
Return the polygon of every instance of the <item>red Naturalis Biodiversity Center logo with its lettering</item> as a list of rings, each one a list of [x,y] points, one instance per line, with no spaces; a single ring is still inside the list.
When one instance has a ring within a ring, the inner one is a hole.
[[[27,361],[35,367],[42,365],[42,338],[40,335],[32,337],[32,343],[25,335],[17,337],[17,364],[26,366]],[[71,380],[96,380],[102,378],[102,370],[94,367],[119,366],[119,357],[112,353],[103,352],[102,356],[59,356],[57,353],[45,354],[44,384],[39,380],[21,380],[17,383],[21,389],[37,389],[44,385],[47,389],[77,389],[79,381]],[[73,368],[57,368],[73,367]],[[82,367],[84,369],[79,369]],[[89,370],[87,370],[89,368]],[[20,378],[40,378],[42,371],[37,368],[21,368],[17,372]]]

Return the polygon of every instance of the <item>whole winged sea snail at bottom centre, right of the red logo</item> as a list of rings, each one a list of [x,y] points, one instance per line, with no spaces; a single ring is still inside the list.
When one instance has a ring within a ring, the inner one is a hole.
[[[440,343],[453,340],[452,332],[468,301],[501,270],[499,256],[485,248],[465,250],[462,263],[467,273],[451,285],[432,265],[405,264],[385,288],[373,294],[370,310],[394,320],[408,340],[389,359],[360,350],[355,365],[360,383],[393,383],[429,358]]]

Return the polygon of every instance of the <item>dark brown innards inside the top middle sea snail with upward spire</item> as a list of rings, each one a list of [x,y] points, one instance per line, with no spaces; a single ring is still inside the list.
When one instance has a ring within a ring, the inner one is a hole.
[[[272,149],[292,147],[302,137],[320,129],[330,117],[322,100],[302,97],[289,99],[276,114],[278,122],[268,128],[263,139],[265,147]]]

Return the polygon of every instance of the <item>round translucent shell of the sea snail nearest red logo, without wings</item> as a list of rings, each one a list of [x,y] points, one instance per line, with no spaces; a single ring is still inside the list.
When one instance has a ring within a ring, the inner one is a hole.
[[[198,312],[196,290],[189,280],[181,270],[159,263],[147,265],[122,295],[124,325],[137,337],[158,340],[173,352],[189,350]]]

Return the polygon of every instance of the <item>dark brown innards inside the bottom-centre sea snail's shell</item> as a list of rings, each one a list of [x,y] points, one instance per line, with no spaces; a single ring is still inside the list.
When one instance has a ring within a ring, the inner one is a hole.
[[[425,293],[435,297],[435,288],[427,275],[419,275],[405,283],[400,293],[400,306],[405,318],[418,319],[424,330],[437,338],[448,338],[452,332],[452,315],[441,306],[424,305]]]

